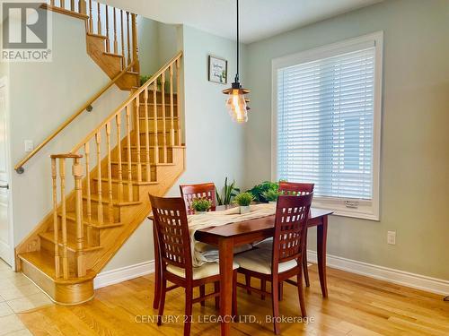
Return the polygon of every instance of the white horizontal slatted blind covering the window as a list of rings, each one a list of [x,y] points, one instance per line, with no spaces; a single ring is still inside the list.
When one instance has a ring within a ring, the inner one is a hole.
[[[371,199],[374,47],[279,69],[277,85],[278,177]]]

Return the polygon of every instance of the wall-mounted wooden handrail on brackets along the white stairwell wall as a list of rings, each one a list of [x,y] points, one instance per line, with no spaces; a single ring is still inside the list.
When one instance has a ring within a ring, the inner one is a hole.
[[[84,110],[86,108],[89,108],[92,103],[100,98],[100,96],[106,91],[108,90],[112,85],[115,84],[115,82],[117,82],[119,80],[119,78],[124,75],[125,73],[128,72],[128,70],[130,70],[133,65],[134,65],[133,61],[130,65],[128,65],[125,69],[123,69],[117,76],[115,76],[112,80],[110,80],[110,82],[108,82],[108,84],[106,84],[101,90],[99,90],[97,93],[95,93],[91,99],[87,100],[84,105],[82,106],[82,108],[78,109],[72,116],[70,116],[62,125],[60,125],[59,127],[57,127],[57,130],[55,132],[53,132],[52,134],[48,135],[48,137],[40,143],[40,145],[38,147],[36,147],[33,151],[31,151],[24,159],[22,159],[19,163],[17,163],[14,166],[14,170],[18,173],[18,174],[22,174],[25,169],[23,168],[23,165],[29,160],[31,159],[34,155],[36,155],[38,153],[38,151],[40,151],[48,142],[50,142],[51,140],[53,140],[57,134],[59,134],[63,129],[66,128],[67,125],[69,125],[70,123],[72,123],[75,118],[79,115],[81,115]]]

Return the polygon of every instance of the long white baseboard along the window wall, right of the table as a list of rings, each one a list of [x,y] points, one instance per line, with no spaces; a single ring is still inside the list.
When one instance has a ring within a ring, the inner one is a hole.
[[[307,250],[307,259],[309,262],[317,262],[315,251]],[[422,289],[428,292],[448,295],[449,280],[442,280],[410,273],[408,271],[394,270],[388,267],[378,266],[371,263],[357,262],[340,256],[327,254],[327,265],[342,271],[349,271],[370,278],[385,280],[399,285],[411,287],[413,289]]]

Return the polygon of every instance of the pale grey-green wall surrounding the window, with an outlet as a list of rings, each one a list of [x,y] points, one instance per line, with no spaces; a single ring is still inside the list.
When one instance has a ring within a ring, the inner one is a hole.
[[[449,280],[449,1],[391,0],[247,47],[247,186],[269,179],[271,60],[383,30],[381,220],[330,219],[328,253]],[[397,231],[396,245],[386,243]],[[315,232],[310,245],[314,249]]]

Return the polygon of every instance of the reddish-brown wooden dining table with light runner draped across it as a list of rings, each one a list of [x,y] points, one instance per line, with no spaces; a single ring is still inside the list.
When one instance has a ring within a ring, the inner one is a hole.
[[[224,211],[229,206],[216,206],[213,211]],[[317,263],[322,297],[328,297],[326,283],[326,241],[328,232],[328,217],[333,211],[311,208],[307,220],[308,228],[317,228]],[[153,218],[148,217],[150,220]],[[220,264],[220,315],[221,334],[231,334],[232,299],[233,299],[233,248],[259,242],[274,235],[275,215],[260,217],[252,220],[242,220],[222,226],[201,228],[195,233],[195,239],[218,248]],[[154,228],[155,226],[153,226]],[[153,229],[154,242],[156,233]],[[154,244],[154,255],[158,255],[157,244]],[[159,306],[158,287],[160,286],[159,258],[155,257],[155,289],[154,308]]]

